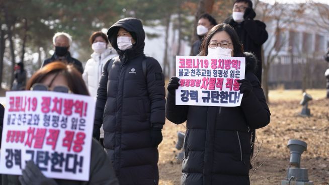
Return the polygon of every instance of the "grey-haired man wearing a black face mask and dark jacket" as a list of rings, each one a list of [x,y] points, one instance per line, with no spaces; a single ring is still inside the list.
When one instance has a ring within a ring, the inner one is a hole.
[[[41,67],[53,62],[62,61],[67,64],[73,64],[74,67],[82,74],[84,73],[84,67],[80,61],[71,57],[69,48],[72,44],[72,37],[64,32],[58,32],[52,38],[52,43],[54,45],[55,52],[46,60],[43,61]]]

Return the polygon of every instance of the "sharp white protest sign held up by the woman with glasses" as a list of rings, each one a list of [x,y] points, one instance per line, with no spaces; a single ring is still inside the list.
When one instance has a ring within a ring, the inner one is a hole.
[[[240,106],[244,70],[243,57],[176,56],[176,105]]]

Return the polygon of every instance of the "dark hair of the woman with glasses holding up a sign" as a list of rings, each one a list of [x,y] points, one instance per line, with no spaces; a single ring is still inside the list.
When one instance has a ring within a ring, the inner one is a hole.
[[[208,45],[210,42],[210,39],[215,35],[215,33],[217,32],[221,32],[221,31],[225,31],[230,39],[232,40],[232,44],[233,44],[233,53],[235,57],[244,57],[243,55],[243,49],[242,49],[242,45],[239,42],[239,38],[234,30],[234,28],[232,28],[231,26],[229,26],[228,24],[225,23],[221,23],[218,24],[216,26],[214,26],[205,36],[202,44],[201,44],[201,49],[200,49],[200,56],[207,56],[208,55]]]

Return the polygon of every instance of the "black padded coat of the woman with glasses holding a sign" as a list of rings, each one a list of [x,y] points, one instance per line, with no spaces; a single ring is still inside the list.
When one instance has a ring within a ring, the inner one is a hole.
[[[176,124],[187,121],[181,184],[244,185],[249,182],[250,135],[270,122],[261,84],[249,69],[256,59],[246,56],[246,74],[253,90],[239,107],[176,106],[168,93],[166,116]]]

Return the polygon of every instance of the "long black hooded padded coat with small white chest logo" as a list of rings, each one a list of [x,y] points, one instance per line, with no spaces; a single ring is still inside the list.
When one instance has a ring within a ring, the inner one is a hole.
[[[131,49],[118,49],[119,27],[136,38]],[[109,29],[108,36],[119,58],[104,66],[97,91],[94,130],[103,124],[104,146],[121,185],[157,184],[158,151],[151,144],[150,130],[161,128],[165,121],[162,69],[157,60],[143,53],[145,33],[139,20],[118,21]],[[144,59],[146,79],[142,69]]]

